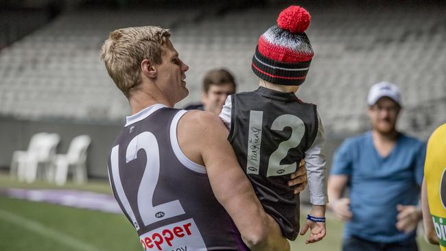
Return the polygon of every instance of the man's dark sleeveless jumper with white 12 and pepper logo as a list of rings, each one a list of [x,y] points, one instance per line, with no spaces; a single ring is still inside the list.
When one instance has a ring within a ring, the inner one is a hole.
[[[206,169],[180,150],[186,112],[156,104],[130,117],[108,159],[113,194],[144,250],[248,250]]]

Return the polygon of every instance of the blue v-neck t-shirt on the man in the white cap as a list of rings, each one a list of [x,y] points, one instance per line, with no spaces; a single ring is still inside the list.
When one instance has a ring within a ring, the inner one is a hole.
[[[331,174],[349,176],[353,218],[344,237],[390,243],[415,237],[397,230],[397,204],[419,202],[425,143],[400,134],[386,158],[375,150],[371,132],[349,138],[336,151]]]

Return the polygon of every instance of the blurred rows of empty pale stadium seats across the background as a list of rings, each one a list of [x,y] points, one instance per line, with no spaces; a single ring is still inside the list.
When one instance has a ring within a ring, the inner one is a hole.
[[[172,41],[190,67],[190,95],[180,106],[200,99],[204,73],[217,67],[234,73],[238,91],[252,90],[257,78],[250,62],[257,39],[286,4],[225,11],[64,12],[1,49],[0,116],[121,124],[130,110],[100,62],[99,49],[108,32],[128,26],[172,30]],[[366,130],[366,93],[382,80],[401,86],[401,130],[427,139],[446,121],[446,8],[409,3],[349,5],[348,11],[344,5],[305,7],[312,13],[307,34],[316,55],[298,96],[318,104],[327,135],[340,138]]]

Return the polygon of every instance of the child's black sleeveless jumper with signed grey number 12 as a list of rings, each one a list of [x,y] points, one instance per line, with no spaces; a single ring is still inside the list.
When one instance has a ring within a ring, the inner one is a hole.
[[[228,140],[239,164],[266,213],[276,219],[287,239],[294,240],[300,203],[287,182],[316,139],[316,105],[303,103],[294,93],[263,87],[232,95],[231,103]]]

